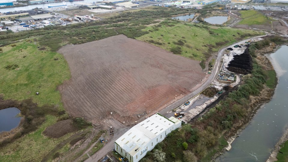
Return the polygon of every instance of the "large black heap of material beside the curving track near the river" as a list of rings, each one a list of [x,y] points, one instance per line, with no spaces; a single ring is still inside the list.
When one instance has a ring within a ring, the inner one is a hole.
[[[241,55],[235,55],[233,60],[228,64],[227,69],[234,73],[244,74],[250,73],[252,70],[252,58],[248,48]]]

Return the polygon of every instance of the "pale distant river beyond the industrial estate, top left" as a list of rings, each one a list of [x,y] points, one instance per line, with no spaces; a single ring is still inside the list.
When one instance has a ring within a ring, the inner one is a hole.
[[[99,1],[99,0],[97,0]],[[100,0],[102,1],[102,0]],[[74,3],[91,3],[91,2],[96,2],[96,0],[83,0],[83,1],[66,1],[67,5],[74,5]],[[24,6],[24,7],[11,7],[11,8],[2,8],[0,9],[0,12],[12,12],[12,11],[20,11],[20,10],[32,10],[36,7],[38,8],[48,8],[48,6],[57,6],[57,5],[62,5],[63,2],[54,2],[54,3],[44,3],[44,4],[34,4],[34,5],[29,5],[29,6]]]

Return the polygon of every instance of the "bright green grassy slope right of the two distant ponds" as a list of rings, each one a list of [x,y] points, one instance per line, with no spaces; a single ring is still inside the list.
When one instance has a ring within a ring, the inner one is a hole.
[[[258,12],[257,10],[243,10],[239,11],[241,14],[241,21],[238,24],[247,25],[262,25],[269,22],[268,17]]]

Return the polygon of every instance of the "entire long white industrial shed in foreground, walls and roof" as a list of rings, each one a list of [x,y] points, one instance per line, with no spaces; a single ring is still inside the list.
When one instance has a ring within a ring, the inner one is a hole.
[[[179,128],[181,121],[169,119],[158,113],[132,127],[115,141],[115,150],[129,162],[138,162],[171,131]]]

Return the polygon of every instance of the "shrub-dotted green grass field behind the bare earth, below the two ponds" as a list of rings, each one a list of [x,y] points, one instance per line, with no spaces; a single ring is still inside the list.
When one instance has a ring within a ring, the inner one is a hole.
[[[211,53],[237,40],[261,35],[261,32],[209,26],[193,26],[180,22],[165,21],[158,26],[149,26],[149,34],[136,39],[159,46],[175,54],[194,60],[206,61]]]

